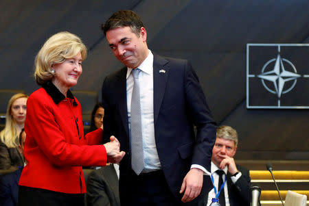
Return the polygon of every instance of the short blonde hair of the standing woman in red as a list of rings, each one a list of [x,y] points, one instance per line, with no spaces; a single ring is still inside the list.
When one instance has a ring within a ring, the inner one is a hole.
[[[38,51],[34,60],[34,78],[38,85],[50,81],[56,73],[52,71],[53,64],[60,64],[66,59],[80,53],[82,60],[87,57],[87,48],[82,40],[68,31],[61,31],[51,36]]]

